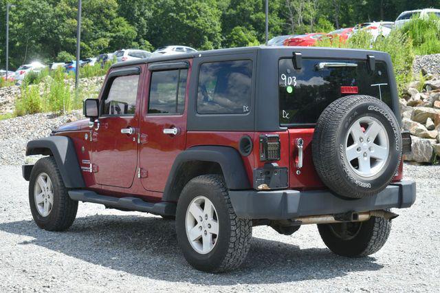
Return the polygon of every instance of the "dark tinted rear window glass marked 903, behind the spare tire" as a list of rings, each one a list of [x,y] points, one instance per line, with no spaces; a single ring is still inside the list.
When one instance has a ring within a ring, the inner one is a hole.
[[[325,67],[319,63],[355,63],[357,67]],[[358,94],[382,98],[391,105],[386,63],[377,61],[375,72],[366,61],[303,59],[302,69],[296,70],[292,59],[279,61],[278,95],[280,124],[314,124],[324,109],[342,94],[341,87],[357,87]]]

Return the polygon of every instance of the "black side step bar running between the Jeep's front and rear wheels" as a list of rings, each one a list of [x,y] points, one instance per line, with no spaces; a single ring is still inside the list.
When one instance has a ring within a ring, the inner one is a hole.
[[[137,212],[152,213],[155,215],[174,216],[176,214],[176,204],[173,202],[144,202],[137,197],[111,197],[99,195],[94,191],[73,190],[69,191],[69,196],[78,202],[93,202],[103,204],[109,208],[119,208],[133,210]]]

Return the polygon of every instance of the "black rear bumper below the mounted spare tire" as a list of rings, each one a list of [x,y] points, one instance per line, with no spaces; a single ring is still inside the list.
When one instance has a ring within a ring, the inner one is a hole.
[[[373,197],[342,199],[330,191],[229,191],[236,215],[243,219],[295,219],[315,215],[409,208],[416,198],[415,182],[387,186]]]

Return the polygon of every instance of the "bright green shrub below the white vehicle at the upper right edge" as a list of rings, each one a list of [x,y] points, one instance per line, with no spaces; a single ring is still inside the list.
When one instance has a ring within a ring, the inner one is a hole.
[[[437,54],[440,53],[440,19],[435,15],[421,19],[415,17],[408,21],[401,32],[408,34],[412,39],[415,54]]]

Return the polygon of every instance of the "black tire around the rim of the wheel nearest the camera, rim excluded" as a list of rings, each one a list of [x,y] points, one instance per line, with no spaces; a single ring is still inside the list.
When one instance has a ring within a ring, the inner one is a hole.
[[[199,195],[210,199],[217,210],[219,222],[217,243],[208,254],[194,250],[186,236],[186,210],[192,199]],[[190,265],[204,272],[224,272],[239,267],[248,254],[252,221],[235,215],[223,177],[201,175],[190,180],[181,191],[177,203],[176,232],[181,251]]]

